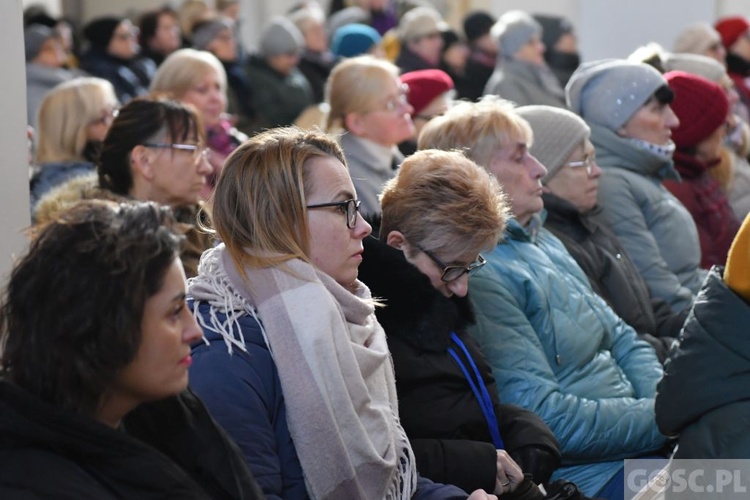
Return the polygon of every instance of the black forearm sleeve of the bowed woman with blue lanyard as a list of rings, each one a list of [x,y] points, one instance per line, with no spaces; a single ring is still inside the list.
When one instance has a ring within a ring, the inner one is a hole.
[[[511,404],[495,411],[505,450],[536,483],[549,481],[560,466],[560,445],[552,430],[535,413]]]

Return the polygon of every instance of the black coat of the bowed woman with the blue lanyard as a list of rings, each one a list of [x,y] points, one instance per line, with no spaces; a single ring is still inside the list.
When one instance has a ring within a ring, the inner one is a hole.
[[[506,451],[537,482],[547,481],[559,465],[557,441],[539,417],[498,401],[490,367],[464,333],[474,317],[469,301],[443,296],[400,250],[372,237],[365,239],[364,246],[359,277],[385,303],[376,315],[393,356],[401,423],[420,474],[466,491],[483,488],[491,492],[495,487],[497,459],[487,422],[469,383],[447,352],[454,331],[487,386]]]

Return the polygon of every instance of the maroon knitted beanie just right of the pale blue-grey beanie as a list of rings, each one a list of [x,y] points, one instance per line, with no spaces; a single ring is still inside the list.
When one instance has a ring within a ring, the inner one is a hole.
[[[726,121],[729,101],[718,84],[684,71],[670,71],[664,78],[674,91],[670,106],[680,119],[672,129],[678,149],[698,145]]]

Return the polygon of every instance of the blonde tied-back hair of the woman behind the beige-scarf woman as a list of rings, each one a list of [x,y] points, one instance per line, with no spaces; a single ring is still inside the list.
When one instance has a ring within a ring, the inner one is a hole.
[[[326,83],[326,102],[330,106],[328,130],[345,129],[349,113],[377,109],[378,101],[386,97],[388,82],[398,79],[398,74],[394,64],[369,55],[338,64]]]

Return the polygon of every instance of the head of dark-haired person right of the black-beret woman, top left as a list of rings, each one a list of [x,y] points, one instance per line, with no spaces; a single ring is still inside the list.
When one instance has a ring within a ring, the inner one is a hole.
[[[182,45],[177,13],[169,7],[150,10],[138,19],[141,57],[151,59],[159,67],[169,54]]]

